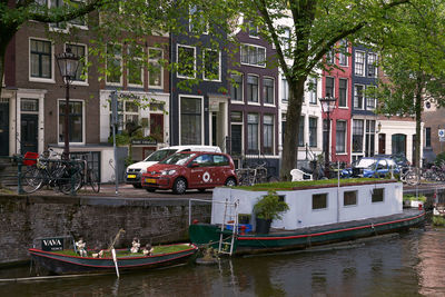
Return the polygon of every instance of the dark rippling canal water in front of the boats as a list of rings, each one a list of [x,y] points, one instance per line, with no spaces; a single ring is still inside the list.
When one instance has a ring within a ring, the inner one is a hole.
[[[0,278],[29,268],[1,269]],[[445,229],[353,248],[224,259],[116,276],[0,283],[0,296],[445,296]]]

